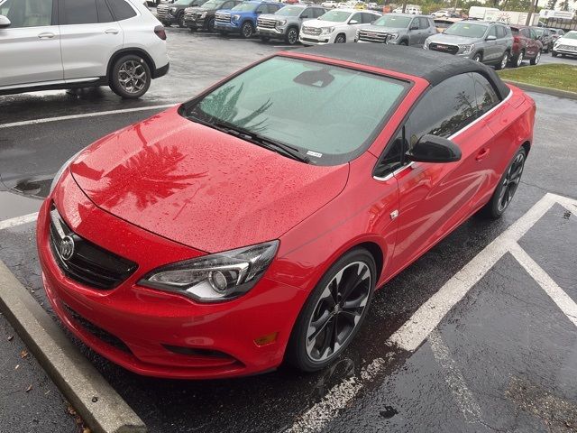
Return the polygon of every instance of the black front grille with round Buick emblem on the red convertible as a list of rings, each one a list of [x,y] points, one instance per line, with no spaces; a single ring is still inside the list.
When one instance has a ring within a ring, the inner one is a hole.
[[[64,254],[65,246],[72,253]],[[136,263],[106,251],[74,233],[54,205],[50,209],[50,249],[60,270],[67,277],[94,289],[114,289],[137,268]]]

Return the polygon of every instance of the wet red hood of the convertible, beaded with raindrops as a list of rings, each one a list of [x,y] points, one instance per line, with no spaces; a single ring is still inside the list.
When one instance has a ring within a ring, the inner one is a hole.
[[[335,198],[349,168],[291,160],[172,108],[105,136],[70,171],[97,207],[216,253],[279,238]]]

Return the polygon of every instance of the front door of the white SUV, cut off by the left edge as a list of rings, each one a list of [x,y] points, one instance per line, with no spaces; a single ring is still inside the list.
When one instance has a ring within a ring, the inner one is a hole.
[[[0,29],[0,88],[63,79],[54,2],[6,0],[0,5],[0,14],[10,20]]]

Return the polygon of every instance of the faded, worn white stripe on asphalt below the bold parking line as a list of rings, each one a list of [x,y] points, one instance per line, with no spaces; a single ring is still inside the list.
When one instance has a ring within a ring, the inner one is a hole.
[[[467,382],[465,382],[461,369],[454,362],[451,351],[444,344],[439,332],[437,330],[431,332],[428,341],[436,362],[444,370],[444,382],[447,383],[453,393],[453,399],[463,412],[464,419],[470,424],[481,422],[481,406],[479,406],[471,390],[467,387]]]

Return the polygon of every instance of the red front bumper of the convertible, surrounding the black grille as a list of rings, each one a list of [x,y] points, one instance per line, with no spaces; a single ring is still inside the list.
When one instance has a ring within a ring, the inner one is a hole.
[[[76,234],[138,263],[133,275],[113,290],[67,277],[50,251],[52,202]],[[152,269],[203,253],[99,209],[69,172],[41,207],[37,243],[44,287],[60,320],[98,354],[143,375],[207,379],[274,369],[307,295],[266,275],[243,297],[216,304],[139,286]],[[276,341],[255,343],[272,333]]]

